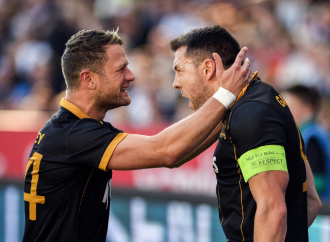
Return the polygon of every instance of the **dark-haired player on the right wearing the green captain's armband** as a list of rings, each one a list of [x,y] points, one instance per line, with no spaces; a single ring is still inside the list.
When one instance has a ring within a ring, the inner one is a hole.
[[[213,52],[223,66],[240,45],[219,25],[192,29],[169,42],[173,87],[198,112],[219,88]],[[221,132],[220,132],[221,130]],[[179,166],[218,143],[213,156],[219,218],[227,241],[308,241],[321,209],[303,139],[283,98],[254,72],[222,123]]]

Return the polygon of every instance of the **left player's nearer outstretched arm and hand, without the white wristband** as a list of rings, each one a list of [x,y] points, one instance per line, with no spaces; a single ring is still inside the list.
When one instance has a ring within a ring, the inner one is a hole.
[[[247,59],[241,65],[247,48],[243,48],[227,70],[223,69],[221,59],[215,57],[216,76],[221,86],[236,97],[248,83],[251,71]],[[115,148],[107,168],[130,170],[153,167],[173,167],[211,134],[226,112],[225,107],[210,98],[203,107],[180,122],[154,136],[130,134]]]

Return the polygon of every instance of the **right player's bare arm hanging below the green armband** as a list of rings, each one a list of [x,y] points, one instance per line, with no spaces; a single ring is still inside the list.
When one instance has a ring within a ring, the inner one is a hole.
[[[257,209],[254,218],[254,241],[284,241],[286,234],[285,190],[289,174],[285,171],[262,172],[249,180]]]

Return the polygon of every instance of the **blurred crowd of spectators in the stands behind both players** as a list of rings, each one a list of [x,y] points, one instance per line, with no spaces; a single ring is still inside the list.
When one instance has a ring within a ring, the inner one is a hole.
[[[313,86],[329,99],[329,1],[0,0],[0,109],[56,111],[65,96],[60,57],[69,37],[81,29],[119,26],[136,81],[131,104],[105,119],[136,126],[173,123],[191,111],[172,88],[168,41],[214,23],[249,48],[251,70],[264,82],[278,90]],[[326,129],[329,112],[323,109]]]

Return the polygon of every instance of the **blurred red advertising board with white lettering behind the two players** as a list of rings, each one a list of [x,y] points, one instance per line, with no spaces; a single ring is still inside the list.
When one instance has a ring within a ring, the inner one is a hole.
[[[127,133],[146,135],[156,134],[163,128],[164,125],[145,129],[121,127]],[[27,160],[37,133],[0,131],[0,179],[24,179]],[[216,183],[212,168],[214,147],[212,146],[180,168],[114,171],[112,186],[213,195]]]

